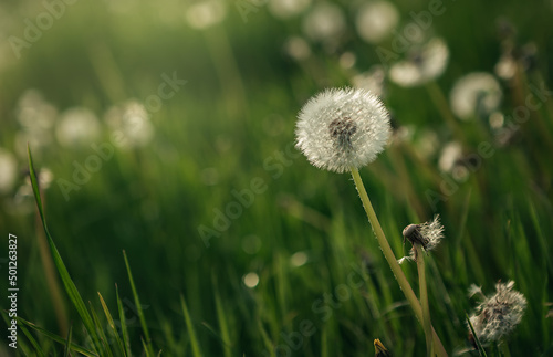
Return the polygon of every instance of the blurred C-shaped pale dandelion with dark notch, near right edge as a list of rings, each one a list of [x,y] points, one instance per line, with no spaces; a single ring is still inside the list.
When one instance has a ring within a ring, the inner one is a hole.
[[[474,72],[457,81],[449,101],[453,114],[466,120],[493,113],[501,103],[501,86],[493,75]]]

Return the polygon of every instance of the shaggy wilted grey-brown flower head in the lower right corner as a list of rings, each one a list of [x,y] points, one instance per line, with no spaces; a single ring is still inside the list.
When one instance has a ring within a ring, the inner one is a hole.
[[[495,294],[488,296],[470,316],[480,342],[499,342],[521,322],[528,303],[524,295],[514,291],[513,286],[513,281],[495,284]]]

